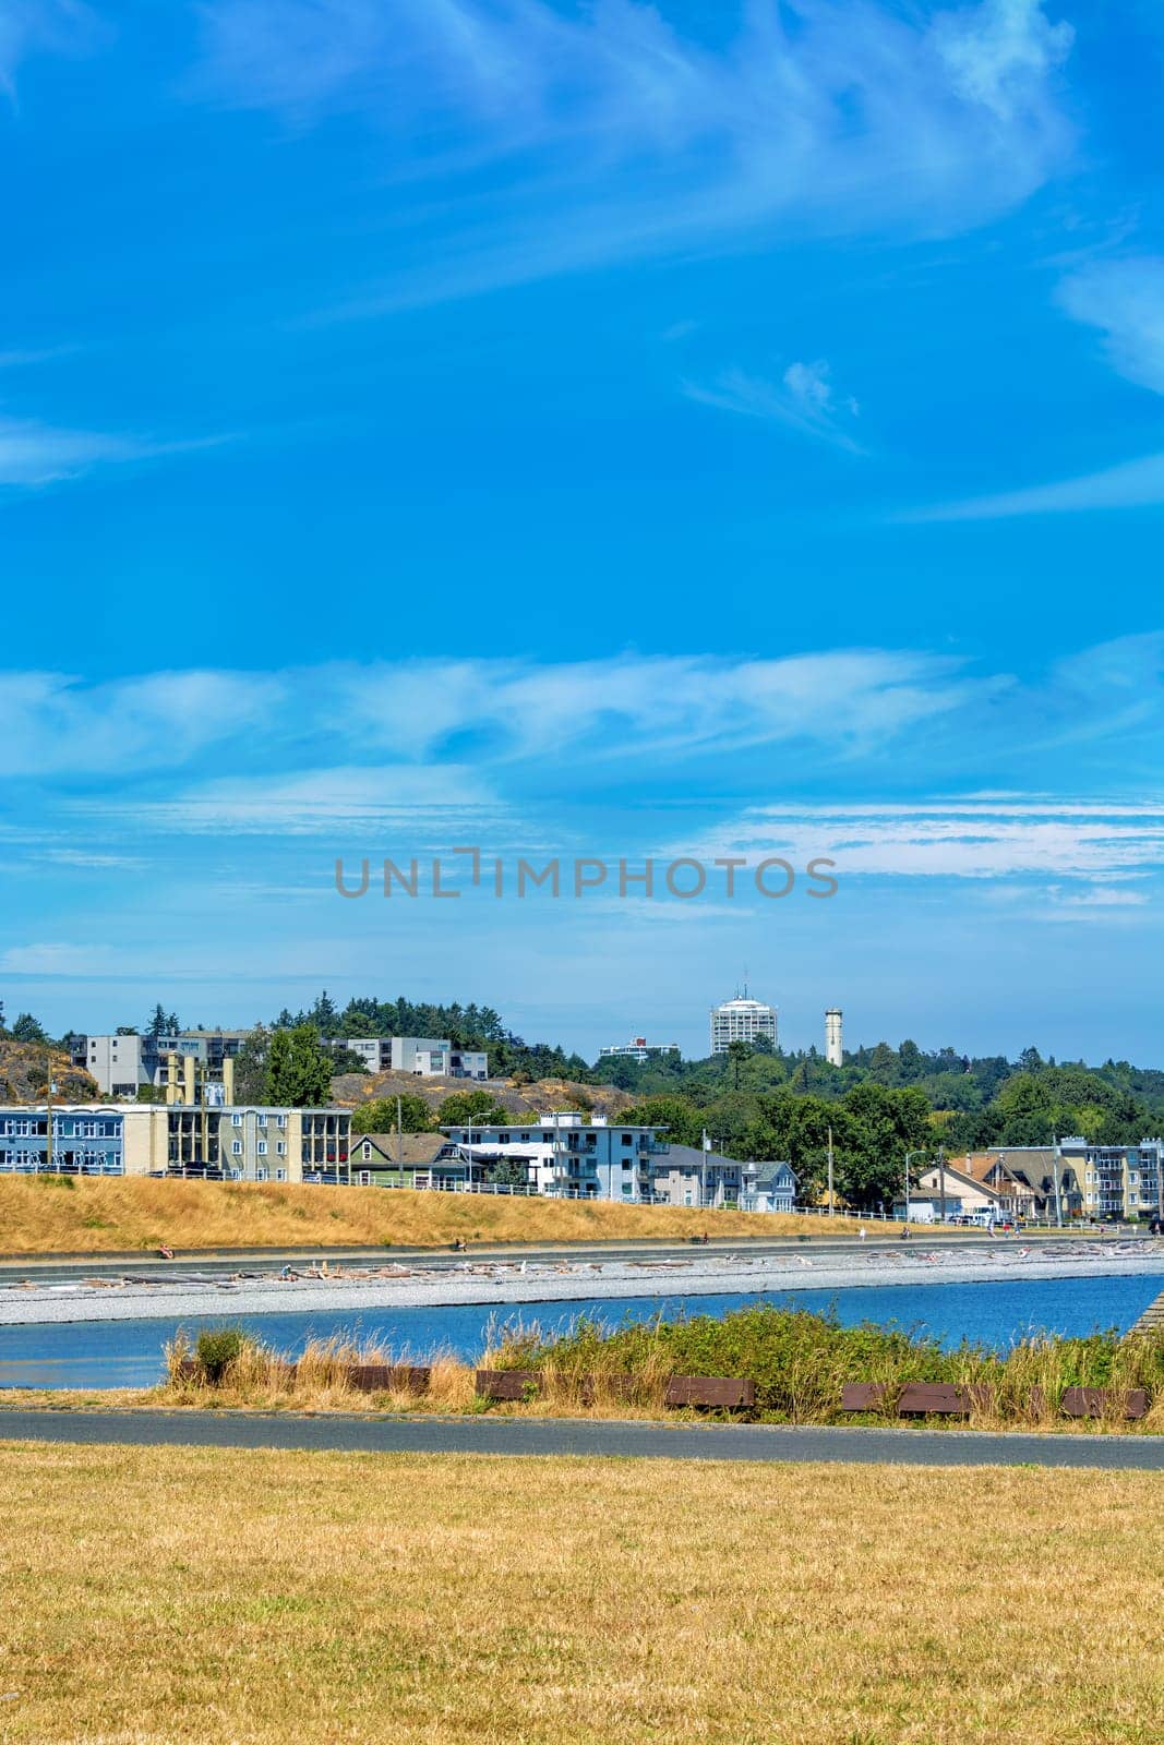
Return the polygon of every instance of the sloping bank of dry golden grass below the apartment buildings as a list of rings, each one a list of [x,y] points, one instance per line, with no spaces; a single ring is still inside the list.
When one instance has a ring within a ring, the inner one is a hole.
[[[778,1213],[616,1206],[487,1194],[412,1194],[244,1181],[147,1178],[0,1180],[0,1249],[7,1255],[115,1253],[157,1248],[436,1248],[480,1242],[586,1242],[630,1237],[853,1235],[846,1220]]]

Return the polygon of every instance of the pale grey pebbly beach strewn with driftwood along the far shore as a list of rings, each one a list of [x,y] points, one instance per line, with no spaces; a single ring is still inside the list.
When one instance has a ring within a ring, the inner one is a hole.
[[[569,1260],[560,1263],[466,1262],[459,1267],[346,1267],[326,1277],[274,1274],[230,1281],[126,1279],[0,1288],[0,1326],[70,1321],[155,1321],[185,1316],[359,1314],[421,1309],[572,1302],[618,1297],[707,1297],[770,1291],[838,1291],[860,1286],[988,1284],[1000,1279],[1157,1276],[1164,1291],[1164,1242],[1112,1242],[1096,1251],[1058,1249],[1054,1258],[1021,1246],[988,1256],[871,1251],[813,1262],[801,1256],[693,1255],[682,1260]]]

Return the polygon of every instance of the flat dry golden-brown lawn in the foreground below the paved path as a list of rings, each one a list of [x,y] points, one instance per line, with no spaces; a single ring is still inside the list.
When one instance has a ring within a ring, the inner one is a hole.
[[[0,1448],[0,1740],[1164,1738],[1159,1480]]]

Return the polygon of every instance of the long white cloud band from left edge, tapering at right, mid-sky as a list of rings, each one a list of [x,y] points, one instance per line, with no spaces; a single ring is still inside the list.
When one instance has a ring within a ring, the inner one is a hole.
[[[239,759],[265,768],[272,756],[284,766],[337,745],[356,761],[415,764],[466,754],[476,764],[541,761],[548,743],[560,754],[585,747],[590,761],[791,742],[853,756],[1005,682],[892,649],[784,660],[370,661],[99,684],[9,672],[0,674],[0,775],[180,770],[227,743],[236,768]]]

